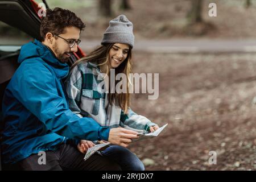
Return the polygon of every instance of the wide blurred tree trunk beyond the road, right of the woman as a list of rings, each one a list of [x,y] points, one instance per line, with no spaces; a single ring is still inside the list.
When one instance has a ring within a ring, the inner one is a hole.
[[[199,23],[202,18],[203,0],[191,0],[191,10],[188,12],[187,18],[189,24]]]

